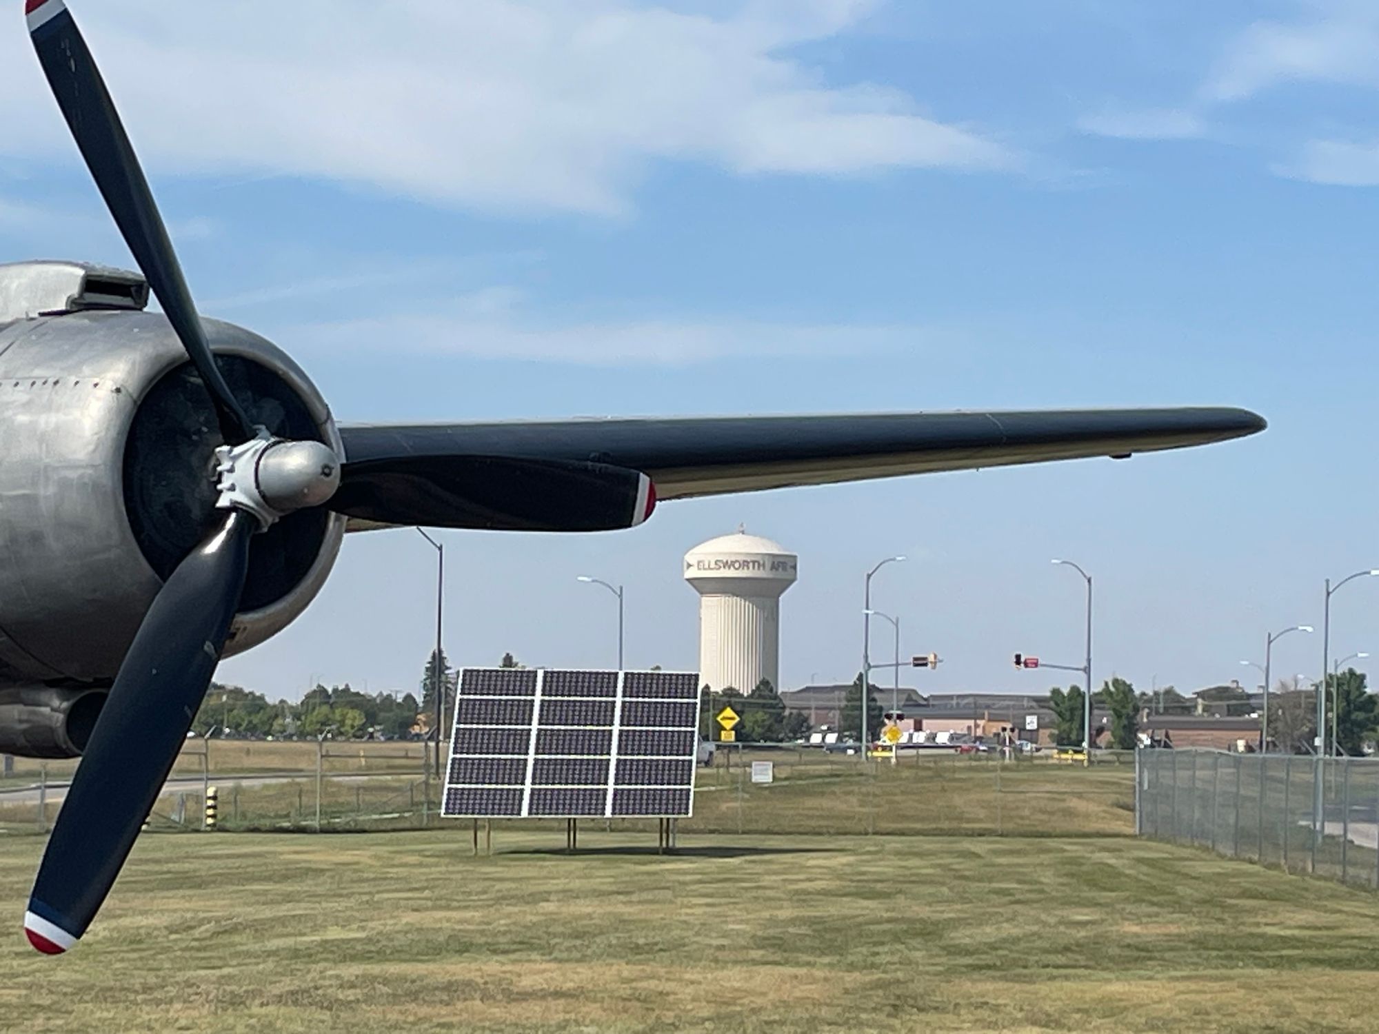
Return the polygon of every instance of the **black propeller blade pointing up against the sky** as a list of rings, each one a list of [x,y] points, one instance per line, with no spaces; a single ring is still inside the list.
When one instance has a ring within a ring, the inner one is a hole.
[[[248,441],[252,426],[215,365],[163,216],[77,23],[62,0],[26,0],[25,14],[52,95],[124,243],[211,393],[221,434],[232,445]]]

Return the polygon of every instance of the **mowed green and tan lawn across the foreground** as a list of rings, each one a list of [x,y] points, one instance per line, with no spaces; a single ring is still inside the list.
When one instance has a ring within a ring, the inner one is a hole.
[[[1379,899],[1131,838],[586,829],[142,838],[41,958],[0,840],[0,1030],[1360,1031]]]

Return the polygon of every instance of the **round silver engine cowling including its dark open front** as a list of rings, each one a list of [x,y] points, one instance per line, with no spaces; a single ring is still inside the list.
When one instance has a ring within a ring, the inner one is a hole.
[[[263,338],[205,320],[250,419],[343,454],[324,398]],[[163,580],[214,521],[210,397],[161,314],[0,323],[0,687],[109,685]],[[256,535],[225,653],[292,622],[325,582],[345,518]]]

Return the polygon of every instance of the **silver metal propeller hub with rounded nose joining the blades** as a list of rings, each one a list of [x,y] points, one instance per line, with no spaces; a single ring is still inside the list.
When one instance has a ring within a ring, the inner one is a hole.
[[[341,483],[335,451],[320,441],[274,438],[259,427],[243,445],[221,445],[217,488],[221,510],[245,510],[268,528],[280,517],[328,502]]]

